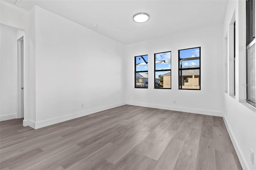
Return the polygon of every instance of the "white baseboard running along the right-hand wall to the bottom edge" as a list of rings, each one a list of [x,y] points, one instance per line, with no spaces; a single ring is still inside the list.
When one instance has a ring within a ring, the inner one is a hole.
[[[227,130],[228,130],[228,134],[230,136],[232,144],[234,145],[234,148],[236,150],[236,154],[238,156],[238,159],[240,161],[240,164],[241,164],[242,168],[244,170],[249,170],[250,168],[249,168],[248,164],[245,161],[244,155],[242,154],[240,147],[237,145],[236,138],[234,137],[234,134],[233,134],[232,130],[229,128],[228,122],[226,121],[225,117],[223,117],[223,120],[224,120],[224,123],[226,125]]]

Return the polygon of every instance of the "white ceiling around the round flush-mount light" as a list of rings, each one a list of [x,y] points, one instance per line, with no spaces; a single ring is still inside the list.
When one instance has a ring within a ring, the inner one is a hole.
[[[221,24],[227,4],[227,0],[18,0],[16,6],[25,10],[40,6],[129,44]],[[135,23],[132,16],[138,12],[148,13],[149,21]]]

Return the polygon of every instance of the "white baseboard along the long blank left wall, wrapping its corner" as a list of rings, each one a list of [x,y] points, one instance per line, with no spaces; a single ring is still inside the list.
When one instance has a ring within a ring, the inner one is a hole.
[[[38,128],[54,125],[56,123],[60,123],[60,122],[68,121],[68,120],[71,120],[71,119],[75,119],[75,118],[78,118],[78,117],[90,115],[92,113],[97,113],[97,112],[104,111],[104,110],[107,110],[107,109],[112,109],[114,107],[119,107],[119,106],[122,106],[122,105],[125,105],[125,102],[116,103],[116,104],[108,105],[108,106],[104,106],[104,107],[98,107],[98,108],[95,108],[95,109],[90,109],[90,110],[83,111],[83,112],[73,113],[73,114],[70,114],[70,115],[65,115],[63,117],[57,117],[57,118],[54,118],[54,119],[48,119],[48,120],[41,121],[41,122],[36,122],[36,123],[34,123],[34,125],[33,125],[33,122],[24,121],[23,126],[25,124],[27,126],[30,126],[30,127],[34,128],[34,129],[38,129]]]

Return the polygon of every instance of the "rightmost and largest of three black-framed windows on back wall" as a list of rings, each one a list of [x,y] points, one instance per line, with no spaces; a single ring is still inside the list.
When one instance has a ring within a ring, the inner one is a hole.
[[[180,49],[179,55],[179,89],[201,89],[201,47]]]

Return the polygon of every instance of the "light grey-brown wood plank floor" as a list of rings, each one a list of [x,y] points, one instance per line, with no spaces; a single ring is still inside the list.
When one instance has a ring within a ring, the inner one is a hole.
[[[242,169],[222,117],[124,105],[34,130],[0,123],[0,169]]]

